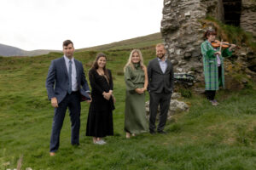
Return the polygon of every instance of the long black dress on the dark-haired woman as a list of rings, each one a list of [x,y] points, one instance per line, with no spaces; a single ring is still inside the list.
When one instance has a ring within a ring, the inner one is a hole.
[[[102,95],[113,90],[113,79],[111,71],[107,70],[107,77],[101,76],[95,69],[89,71],[91,98],[89,114],[87,119],[86,136],[103,138],[113,135],[113,114],[114,110],[112,97],[108,100]]]

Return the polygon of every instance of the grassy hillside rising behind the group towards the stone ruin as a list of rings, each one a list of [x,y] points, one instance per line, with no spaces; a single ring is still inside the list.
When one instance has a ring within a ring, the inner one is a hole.
[[[100,45],[90,48],[80,48],[77,52],[81,51],[106,51],[106,50],[119,50],[119,49],[131,49],[131,48],[148,48],[154,46],[156,43],[163,42],[160,32],[150,34],[148,36],[131,38],[120,42],[112,42],[105,45]]]

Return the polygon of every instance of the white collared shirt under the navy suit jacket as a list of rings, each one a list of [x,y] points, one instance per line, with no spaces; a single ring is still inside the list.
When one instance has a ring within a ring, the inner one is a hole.
[[[67,66],[67,73],[69,72],[69,60],[72,60],[72,75],[71,75],[71,80],[72,80],[72,91],[78,91],[78,81],[77,81],[77,70],[76,70],[76,65],[74,62],[74,59],[68,59],[67,56],[64,55],[65,63]]]

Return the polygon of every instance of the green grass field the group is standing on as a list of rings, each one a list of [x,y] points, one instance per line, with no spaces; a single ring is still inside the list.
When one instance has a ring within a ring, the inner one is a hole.
[[[145,63],[154,58],[154,48],[143,49]],[[183,100],[189,112],[174,116],[166,124],[166,135],[144,133],[125,139],[125,82],[119,76],[129,51],[106,51],[113,71],[114,136],[106,145],[92,144],[85,136],[88,108],[82,103],[80,145],[70,144],[68,117],[61,130],[61,146],[49,157],[49,136],[53,108],[44,86],[50,60],[61,54],[38,57],[0,58],[0,169],[256,169],[255,86],[230,92],[221,90],[221,103],[212,107],[204,96],[192,94]],[[75,54],[86,73],[96,52]],[[147,94],[148,99],[148,94]]]

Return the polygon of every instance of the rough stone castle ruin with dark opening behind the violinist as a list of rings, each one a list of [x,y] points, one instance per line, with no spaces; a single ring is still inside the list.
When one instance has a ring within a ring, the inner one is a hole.
[[[225,24],[240,26],[256,37],[256,0],[164,0],[161,34],[176,72],[195,74],[203,81],[201,42],[211,26],[201,20],[212,16]],[[213,26],[213,29],[214,26]],[[236,60],[248,78],[255,77],[256,57],[249,48],[236,51]]]

